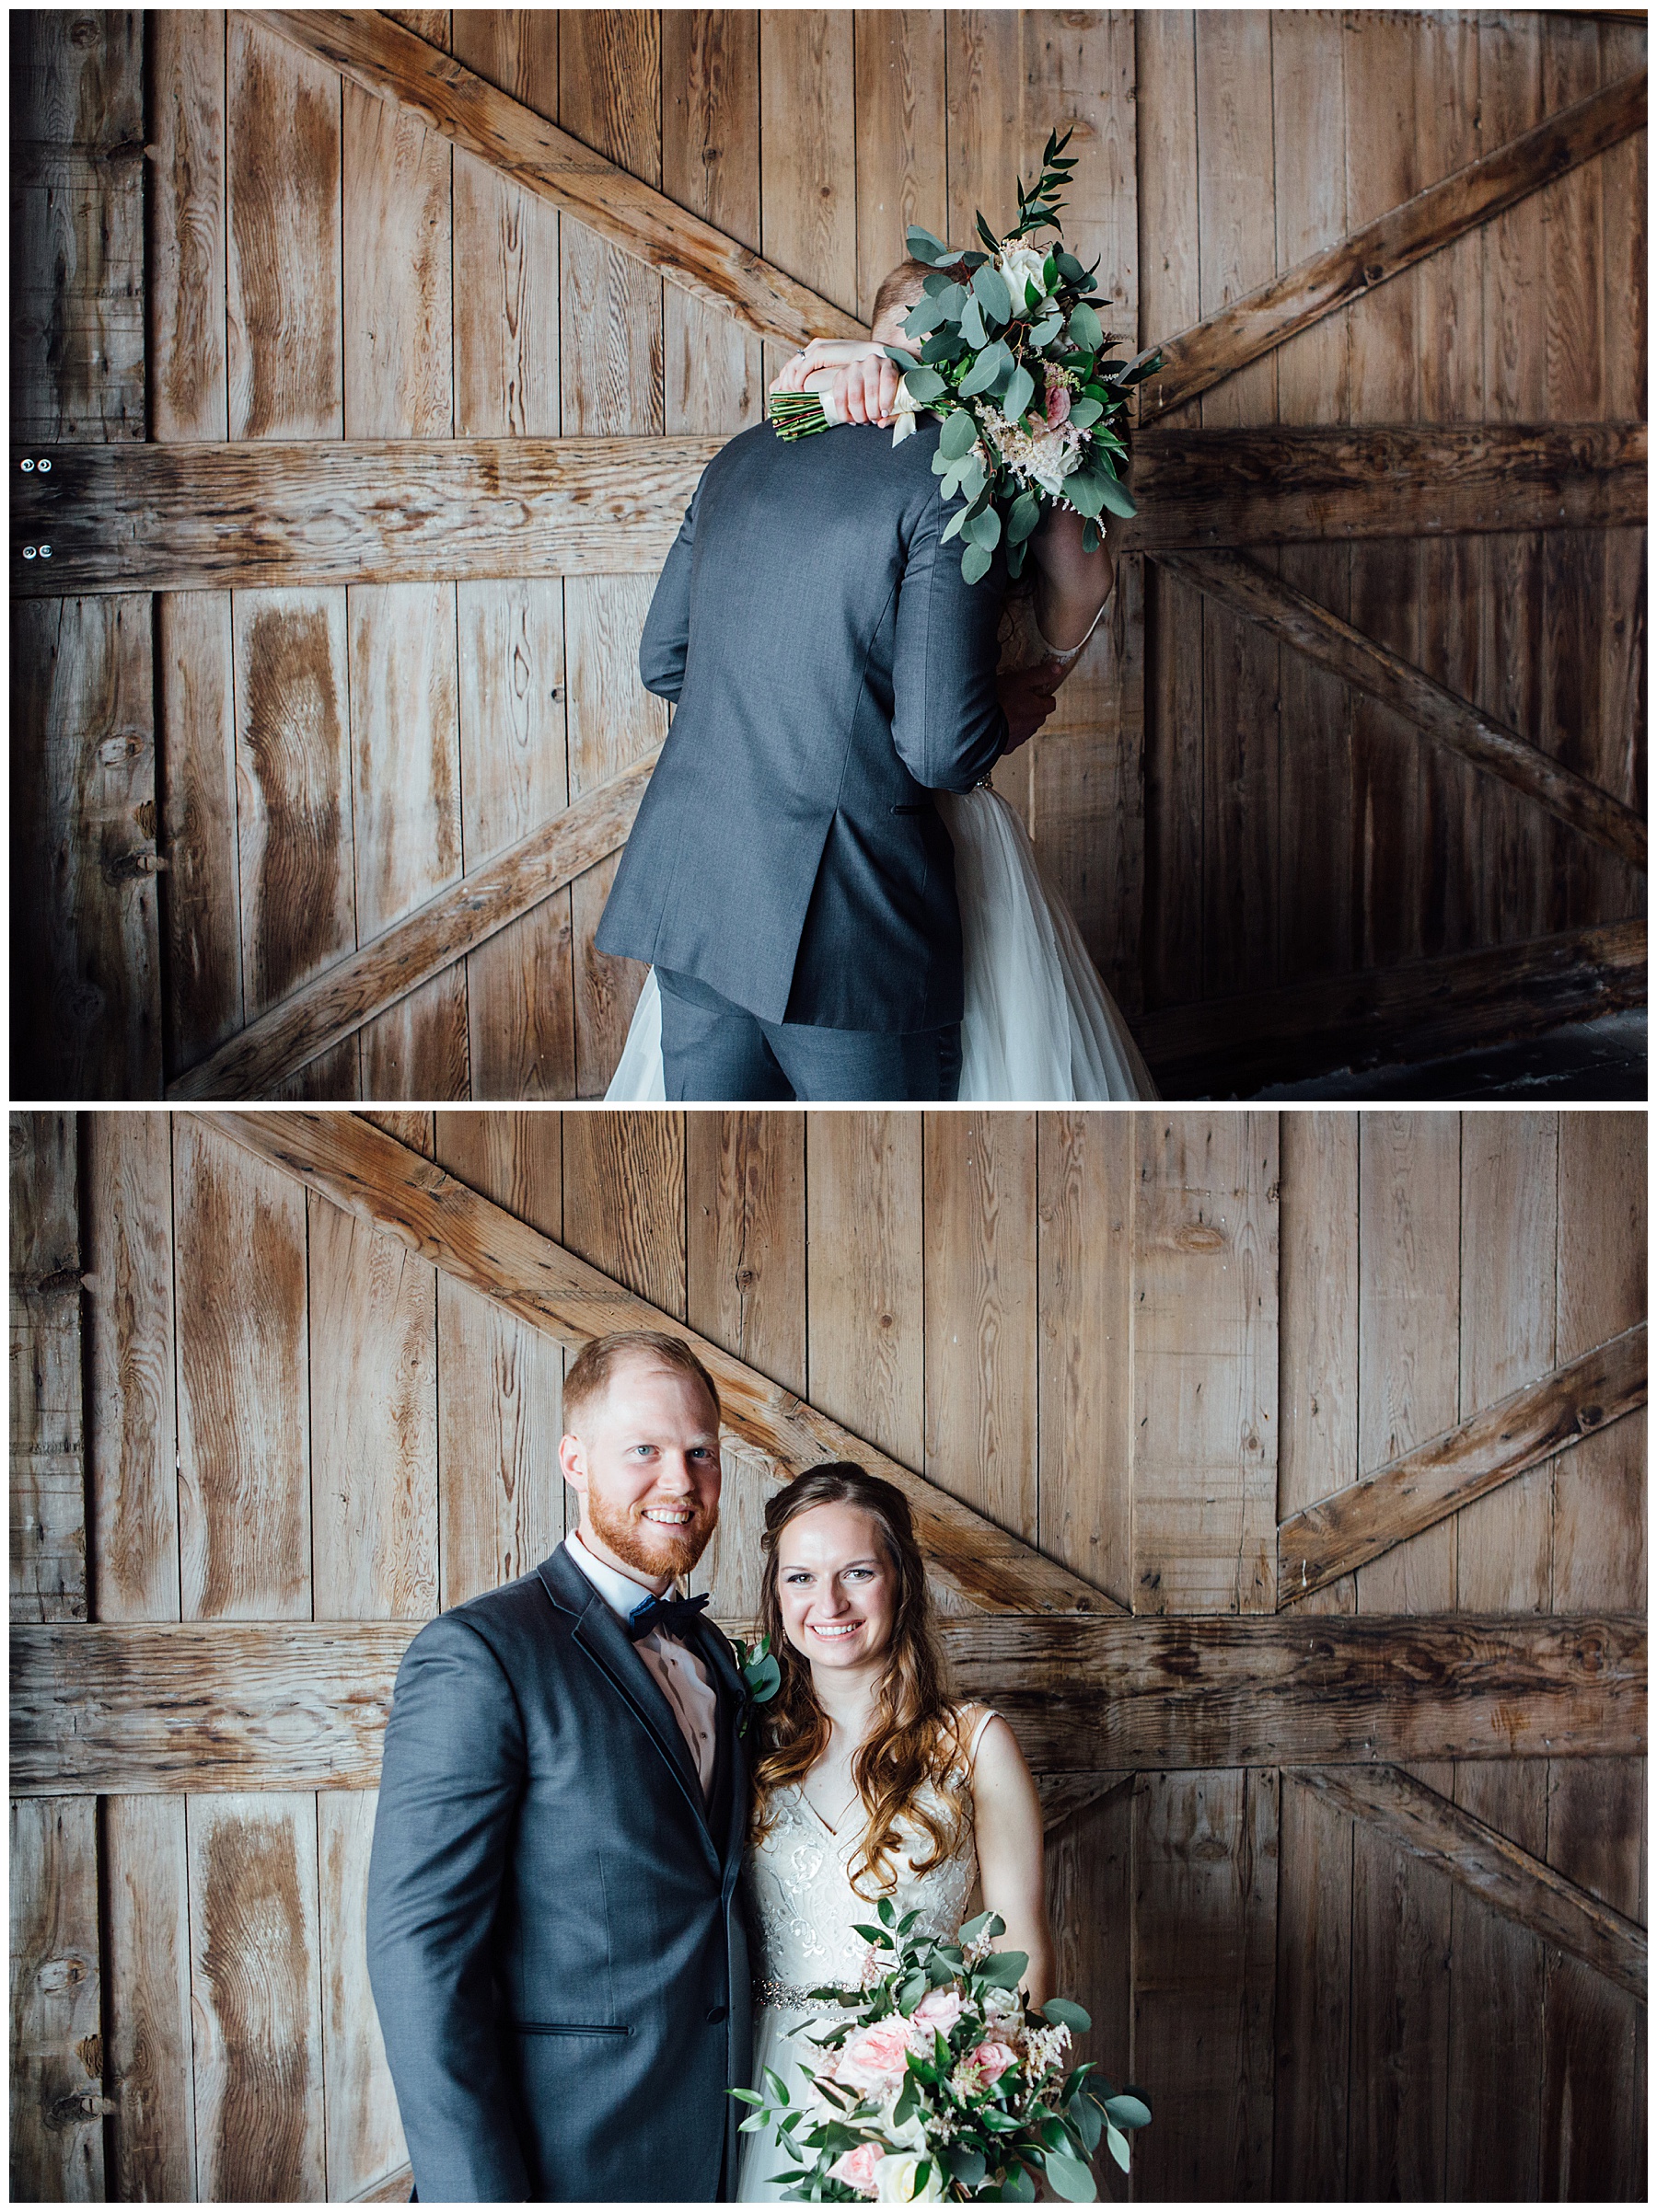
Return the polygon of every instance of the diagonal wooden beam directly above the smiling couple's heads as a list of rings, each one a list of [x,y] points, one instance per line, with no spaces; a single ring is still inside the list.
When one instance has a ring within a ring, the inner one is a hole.
[[[1124,1610],[369,1121],[350,1113],[215,1113],[206,1119],[232,1144],[296,1175],[566,1349],[611,1329],[681,1336],[719,1385],[726,1425],[779,1462],[779,1473],[792,1475],[819,1460],[858,1460],[896,1482],[914,1511],[927,1562],[971,1604],[996,1613]]]

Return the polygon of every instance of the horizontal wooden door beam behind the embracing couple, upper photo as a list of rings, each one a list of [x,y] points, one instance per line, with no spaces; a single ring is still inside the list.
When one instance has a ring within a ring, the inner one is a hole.
[[[11,580],[66,591],[653,575],[719,438],[18,447]],[[1146,431],[1119,551],[1646,518],[1644,422]],[[24,560],[24,546],[51,560]]]

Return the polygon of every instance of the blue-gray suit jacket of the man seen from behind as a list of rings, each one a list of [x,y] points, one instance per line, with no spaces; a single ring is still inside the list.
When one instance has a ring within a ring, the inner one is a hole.
[[[960,1020],[949,832],[1007,743],[1000,560],[960,577],[938,425],[903,445],[770,425],[708,462],[639,672],[677,701],[597,931],[765,1022],[885,1035]]]

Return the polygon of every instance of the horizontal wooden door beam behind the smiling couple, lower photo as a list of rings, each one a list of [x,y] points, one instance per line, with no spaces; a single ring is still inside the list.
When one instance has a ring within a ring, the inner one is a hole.
[[[13,1794],[369,1790],[418,1628],[15,1626]],[[1049,1776],[1637,1756],[1646,1745],[1646,1624],[1635,1615],[1000,1617],[940,1628],[960,1692],[1004,1712]],[[1049,1803],[1064,1807],[1053,1785]]]

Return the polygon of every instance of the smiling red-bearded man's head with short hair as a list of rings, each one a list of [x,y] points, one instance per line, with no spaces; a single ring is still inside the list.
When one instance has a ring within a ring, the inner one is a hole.
[[[619,1360],[557,1447],[582,1542],[655,1586],[686,1575],[719,1522],[719,1422],[695,1376]]]

